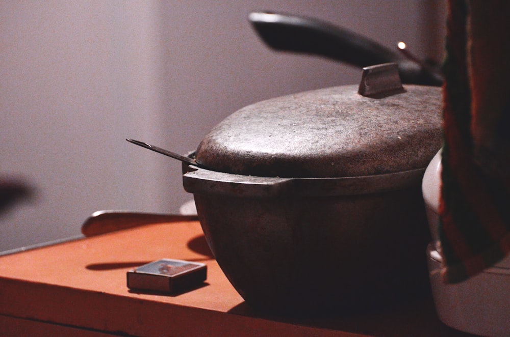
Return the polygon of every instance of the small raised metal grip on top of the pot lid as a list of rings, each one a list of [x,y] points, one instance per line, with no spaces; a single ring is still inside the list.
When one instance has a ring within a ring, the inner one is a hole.
[[[403,91],[396,63],[384,63],[363,68],[358,94],[374,97],[389,96]]]

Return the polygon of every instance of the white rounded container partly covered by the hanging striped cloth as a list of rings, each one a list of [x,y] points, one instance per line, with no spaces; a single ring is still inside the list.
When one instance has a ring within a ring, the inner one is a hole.
[[[441,278],[439,240],[439,198],[441,150],[432,159],[423,177],[422,189],[432,243],[427,249],[432,295],[439,319],[457,330],[483,336],[510,335],[510,257],[482,273],[457,284]]]

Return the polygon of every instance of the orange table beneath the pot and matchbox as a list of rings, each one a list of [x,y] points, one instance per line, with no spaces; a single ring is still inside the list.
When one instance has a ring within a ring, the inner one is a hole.
[[[178,295],[131,291],[126,272],[162,258],[197,261],[207,281]],[[429,297],[370,314],[254,313],[211,257],[197,221],[151,224],[0,257],[0,335],[466,336]]]

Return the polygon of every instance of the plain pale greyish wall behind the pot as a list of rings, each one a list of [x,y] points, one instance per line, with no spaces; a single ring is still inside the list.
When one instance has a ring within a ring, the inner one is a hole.
[[[0,251],[80,233],[94,211],[176,213],[176,160],[263,99],[355,83],[360,70],[277,53],[250,11],[328,20],[441,58],[443,0],[0,2],[0,178],[35,188],[0,214]]]

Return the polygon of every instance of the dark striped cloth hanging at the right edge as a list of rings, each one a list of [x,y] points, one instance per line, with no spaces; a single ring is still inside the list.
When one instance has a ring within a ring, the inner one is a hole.
[[[508,3],[448,2],[438,229],[446,283],[462,282],[510,252]]]

